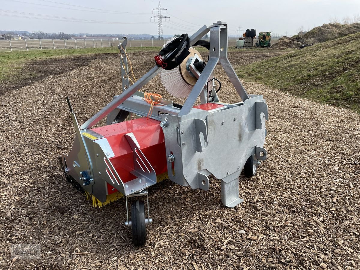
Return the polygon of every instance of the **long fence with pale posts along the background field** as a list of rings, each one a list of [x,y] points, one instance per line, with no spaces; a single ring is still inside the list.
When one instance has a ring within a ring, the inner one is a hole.
[[[78,48],[110,48],[120,45],[123,40],[71,40],[71,39],[28,39],[0,40],[0,52],[56,50]],[[128,40],[127,47],[161,47],[166,40]],[[229,39],[229,47],[235,47],[236,39]]]

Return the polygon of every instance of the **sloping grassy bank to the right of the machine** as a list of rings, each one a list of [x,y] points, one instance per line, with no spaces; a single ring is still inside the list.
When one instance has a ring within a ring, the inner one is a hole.
[[[360,33],[252,63],[238,75],[360,113]]]

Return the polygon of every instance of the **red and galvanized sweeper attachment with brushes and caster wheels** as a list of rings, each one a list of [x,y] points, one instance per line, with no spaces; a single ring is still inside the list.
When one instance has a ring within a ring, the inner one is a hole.
[[[208,32],[210,42],[201,40]],[[154,56],[154,67],[137,81],[129,74],[126,44],[124,37],[118,46],[119,95],[81,126],[67,99],[77,135],[69,154],[62,156],[62,166],[67,179],[95,206],[125,197],[125,225],[131,227],[134,244],[141,245],[146,242],[145,226],[152,223],[147,191],[157,181],[170,179],[208,190],[213,175],[221,179],[225,206],[243,202],[239,176],[242,170],[248,177],[256,175],[266,159],[268,112],[263,96],[249,95],[231,67],[226,23],[217,21],[191,37],[183,34],[167,42]],[[207,61],[193,48],[197,45],[209,50]],[[220,102],[221,84],[213,74],[217,63],[239,94],[238,103]],[[186,98],[184,104],[139,91],[159,73],[169,93]],[[93,128],[105,117],[105,126]]]

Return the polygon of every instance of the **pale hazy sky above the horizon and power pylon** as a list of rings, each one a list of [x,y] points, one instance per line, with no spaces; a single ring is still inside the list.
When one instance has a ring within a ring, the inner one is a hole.
[[[217,19],[228,23],[230,35],[239,25],[244,30],[294,35],[300,26],[311,29],[328,23],[329,17],[341,19],[360,12],[360,0],[162,0],[161,6],[167,9],[162,14],[170,17],[163,20],[163,33],[168,35],[191,34]],[[156,36],[157,21],[150,22],[150,17],[157,15],[151,14],[157,7],[158,0],[0,0],[0,30]]]

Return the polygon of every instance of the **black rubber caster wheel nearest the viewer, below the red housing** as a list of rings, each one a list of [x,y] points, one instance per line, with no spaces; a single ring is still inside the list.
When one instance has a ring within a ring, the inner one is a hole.
[[[145,207],[143,201],[131,204],[131,231],[132,242],[135,246],[146,243]]]

